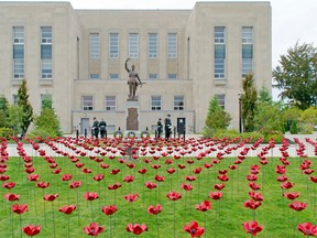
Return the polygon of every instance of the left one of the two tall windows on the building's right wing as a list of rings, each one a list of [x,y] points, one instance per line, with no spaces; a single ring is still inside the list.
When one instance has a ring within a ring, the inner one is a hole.
[[[226,64],[226,34],[225,26],[215,26],[215,78],[225,78]]]

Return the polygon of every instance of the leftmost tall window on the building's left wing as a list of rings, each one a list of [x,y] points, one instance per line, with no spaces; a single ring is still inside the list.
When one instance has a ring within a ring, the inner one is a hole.
[[[13,78],[24,78],[24,28],[13,26]]]

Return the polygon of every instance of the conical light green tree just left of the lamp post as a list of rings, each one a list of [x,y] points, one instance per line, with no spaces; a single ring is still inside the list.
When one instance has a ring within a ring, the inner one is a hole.
[[[209,102],[205,121],[205,134],[212,134],[216,130],[227,129],[230,121],[230,115],[219,106],[217,96],[214,96]]]

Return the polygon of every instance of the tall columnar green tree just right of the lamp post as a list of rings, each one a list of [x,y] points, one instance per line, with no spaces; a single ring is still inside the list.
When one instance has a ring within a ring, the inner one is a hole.
[[[242,80],[243,93],[241,95],[242,104],[242,125],[244,132],[254,130],[254,116],[256,112],[258,91],[254,86],[253,74],[248,74]]]

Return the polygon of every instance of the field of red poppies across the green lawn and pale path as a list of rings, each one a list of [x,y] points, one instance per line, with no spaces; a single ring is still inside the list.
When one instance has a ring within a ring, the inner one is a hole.
[[[316,140],[2,139],[0,153],[0,237],[317,236]]]

